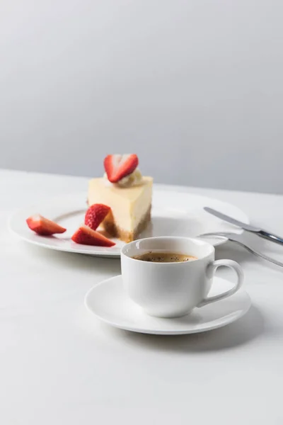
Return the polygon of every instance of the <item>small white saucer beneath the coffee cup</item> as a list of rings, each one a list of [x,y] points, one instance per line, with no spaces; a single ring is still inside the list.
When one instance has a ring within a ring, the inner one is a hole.
[[[214,278],[209,295],[224,292],[232,286],[229,280]],[[91,288],[85,304],[98,319],[114,327],[141,334],[178,335],[210,331],[235,322],[248,311],[251,302],[248,293],[241,289],[225,300],[196,308],[187,316],[161,319],[145,314],[135,305],[123,289],[122,276],[115,276]]]

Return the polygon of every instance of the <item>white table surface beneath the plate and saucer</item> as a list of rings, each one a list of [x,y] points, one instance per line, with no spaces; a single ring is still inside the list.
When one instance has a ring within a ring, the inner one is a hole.
[[[101,324],[83,297],[119,274],[120,260],[38,248],[7,228],[13,210],[86,191],[87,181],[0,171],[0,424],[283,424],[283,271],[225,244],[217,257],[241,263],[253,301],[238,322],[189,336]],[[283,234],[283,196],[178,190],[231,202]],[[283,257],[275,244],[244,238]]]

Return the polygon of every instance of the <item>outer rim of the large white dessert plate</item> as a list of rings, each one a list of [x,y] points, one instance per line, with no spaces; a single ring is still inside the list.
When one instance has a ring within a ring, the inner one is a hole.
[[[161,187],[158,186],[158,184],[156,184],[156,186],[154,186],[154,192],[157,193],[168,193],[168,191],[163,188],[163,185],[160,185]],[[177,188],[180,188],[180,186],[176,186]],[[246,214],[246,212],[244,212],[243,210],[241,210],[241,208],[238,208],[238,206],[233,205],[232,203],[223,201],[223,200],[219,200],[217,198],[211,198],[209,196],[205,196],[205,195],[199,195],[197,193],[190,193],[190,191],[178,191],[178,190],[173,190],[174,186],[171,186],[172,190],[170,191],[171,193],[175,193],[177,195],[182,195],[182,196],[192,196],[194,198],[200,198],[200,199],[207,199],[207,200],[211,200],[212,202],[217,202],[219,204],[223,204],[223,205],[229,205],[230,208],[233,208],[235,210],[238,210],[238,212],[241,212],[241,215],[243,215],[243,217],[245,217],[245,220],[242,220],[244,222],[246,222],[247,224],[250,223],[250,219],[248,217],[248,215]],[[56,203],[56,201],[58,202],[62,202],[62,199],[65,200],[75,200],[76,198],[79,199],[79,197],[83,200],[83,196],[85,195],[84,192],[82,191],[76,191],[76,192],[72,192],[72,193],[67,193],[64,196],[53,196],[53,197],[47,197],[43,200],[40,200],[39,203],[35,203],[33,205],[25,205],[23,208],[21,209],[16,209],[13,210],[13,212],[11,212],[11,215],[8,217],[8,229],[16,235],[16,237],[19,237],[20,239],[22,239],[23,241],[29,243],[29,244],[33,244],[35,246],[40,246],[42,248],[45,249],[52,249],[54,251],[62,251],[62,252],[70,252],[70,253],[74,253],[74,254],[86,254],[86,255],[91,255],[91,256],[98,256],[98,257],[104,257],[104,258],[120,258],[120,249],[119,250],[113,250],[111,251],[111,249],[106,248],[106,247],[98,247],[100,248],[100,251],[96,251],[96,249],[93,249],[92,251],[90,251],[89,246],[88,249],[84,248],[83,245],[79,245],[78,247],[76,246],[71,246],[70,248],[66,247],[66,246],[54,246],[54,245],[50,245],[50,244],[45,244],[44,240],[40,241],[40,240],[35,240],[35,239],[31,239],[31,237],[26,236],[25,234],[21,234],[21,232],[18,232],[17,229],[13,228],[13,220],[16,220],[18,216],[21,216],[25,213],[25,211],[27,210],[35,210],[35,209],[40,209],[40,205],[42,205],[42,207],[44,208],[45,205],[49,205],[50,203]],[[39,205],[39,208],[37,208],[37,205]],[[26,214],[26,213],[25,213]],[[243,229],[238,229],[238,234],[242,234],[243,233]],[[35,235],[33,235],[35,236]],[[224,238],[224,239],[219,239],[219,242],[217,242],[217,244],[214,244],[214,246],[219,246],[221,244],[226,243],[228,239]],[[96,247],[92,247],[92,248],[96,248]],[[101,248],[104,248],[105,251],[101,251]]]

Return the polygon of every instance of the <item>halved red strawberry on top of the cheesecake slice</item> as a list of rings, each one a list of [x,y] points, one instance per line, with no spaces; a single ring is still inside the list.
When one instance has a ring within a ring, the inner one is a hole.
[[[138,164],[139,159],[136,154],[108,155],[104,159],[104,168],[111,183],[117,183],[131,174]]]

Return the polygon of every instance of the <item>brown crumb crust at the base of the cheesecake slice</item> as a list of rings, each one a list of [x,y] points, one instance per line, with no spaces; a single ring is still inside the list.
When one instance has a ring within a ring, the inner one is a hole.
[[[127,232],[127,230],[121,229],[117,226],[113,220],[113,217],[106,217],[102,225],[107,232],[112,237],[118,237],[124,242],[132,242],[135,239],[138,239],[138,236],[146,228],[148,223],[151,221],[151,205],[146,211],[144,217],[139,222],[139,225],[134,229],[134,232]]]

